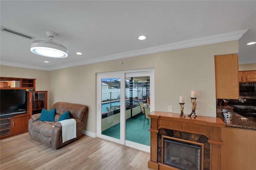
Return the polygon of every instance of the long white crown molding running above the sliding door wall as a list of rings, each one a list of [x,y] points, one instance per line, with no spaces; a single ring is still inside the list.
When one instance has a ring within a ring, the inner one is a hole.
[[[33,69],[38,69],[38,70],[58,70],[62,68],[68,68],[68,67],[74,67],[74,66],[82,66],[86,64],[93,64],[97,62],[104,62],[104,61],[110,61],[110,60],[117,60],[121,58],[128,58],[128,57],[134,57],[134,56],[140,56],[140,55],[145,55],[145,54],[152,54],[156,52],[164,52],[164,51],[170,51],[170,50],[176,50],[176,49],[181,49],[181,48],[189,48],[189,47],[194,47],[194,46],[202,46],[202,45],[207,45],[207,44],[214,44],[214,43],[219,43],[219,42],[226,42],[226,41],[233,41],[233,40],[239,40],[244,33],[246,33],[248,29],[245,30],[239,30],[239,31],[234,31],[234,32],[228,32],[228,33],[223,33],[223,34],[217,34],[213,36],[206,36],[202,38],[195,38],[195,39],[190,39],[190,40],[185,40],[185,41],[180,41],[180,42],[174,42],[170,44],[164,44],[160,46],[154,46],[150,48],[143,48],[140,50],[134,50],[134,51],[129,51],[129,52],[123,52],[123,53],[118,53],[118,54],[113,54],[109,56],[103,56],[100,58],[95,58],[95,59],[89,59],[89,60],[84,60],[80,62],[73,62],[69,64],[63,64],[55,67],[50,67],[50,68],[44,68],[44,67],[34,67],[34,66],[28,66],[28,65],[22,65],[21,64],[16,64],[13,63],[14,65],[11,65],[9,63],[8,66],[16,66],[16,67],[25,67],[25,68],[33,68]],[[1,62],[2,65],[6,65],[6,62]]]

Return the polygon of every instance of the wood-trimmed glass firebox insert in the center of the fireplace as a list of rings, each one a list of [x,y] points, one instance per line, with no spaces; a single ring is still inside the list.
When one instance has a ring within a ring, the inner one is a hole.
[[[201,170],[204,144],[162,136],[163,163],[181,170]]]

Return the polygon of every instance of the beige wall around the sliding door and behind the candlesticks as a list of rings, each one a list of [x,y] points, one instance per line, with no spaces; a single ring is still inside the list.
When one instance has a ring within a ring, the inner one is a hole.
[[[238,53],[238,41],[53,70],[48,74],[49,108],[58,101],[88,105],[84,129],[95,133],[97,73],[154,68],[155,110],[167,111],[168,105],[172,105],[174,112],[180,112],[179,96],[185,96],[184,113],[190,114],[190,91],[196,90],[197,115],[215,117],[214,55],[232,53]]]

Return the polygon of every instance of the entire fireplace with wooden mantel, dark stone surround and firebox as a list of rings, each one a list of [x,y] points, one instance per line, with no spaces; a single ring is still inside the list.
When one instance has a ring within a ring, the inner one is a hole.
[[[220,118],[153,111],[150,117],[150,160],[154,170],[220,170]],[[179,148],[179,149],[176,149]],[[186,153],[186,154],[183,154]],[[190,157],[190,155],[192,155]]]

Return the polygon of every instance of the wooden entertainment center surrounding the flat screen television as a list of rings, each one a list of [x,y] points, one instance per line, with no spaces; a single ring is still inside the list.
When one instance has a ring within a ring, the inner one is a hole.
[[[0,138],[7,138],[28,132],[28,120],[32,114],[40,113],[42,108],[47,109],[48,92],[35,91],[36,79],[29,78],[0,77],[0,89],[26,90],[26,113],[1,118]]]

